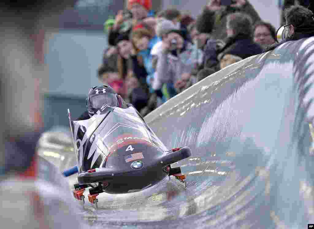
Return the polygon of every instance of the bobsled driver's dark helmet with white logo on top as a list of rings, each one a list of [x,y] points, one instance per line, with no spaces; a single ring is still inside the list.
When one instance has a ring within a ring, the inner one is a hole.
[[[111,107],[122,107],[123,99],[117,95],[111,86],[92,87],[86,98],[86,107],[89,116],[93,116],[104,104]]]

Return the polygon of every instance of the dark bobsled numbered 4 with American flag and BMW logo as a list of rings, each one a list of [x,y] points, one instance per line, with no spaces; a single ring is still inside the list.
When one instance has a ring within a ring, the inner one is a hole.
[[[168,150],[138,111],[104,105],[91,118],[73,121],[68,110],[78,164],[66,176],[78,173],[73,195],[96,204],[102,192],[122,194],[151,187],[167,176],[186,185],[180,167],[171,164],[191,156],[188,147]]]

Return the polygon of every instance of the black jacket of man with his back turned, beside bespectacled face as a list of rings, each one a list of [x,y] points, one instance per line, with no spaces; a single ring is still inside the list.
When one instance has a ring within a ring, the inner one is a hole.
[[[221,59],[226,54],[236,55],[245,59],[262,52],[262,47],[255,43],[251,37],[239,34],[236,37],[230,37],[226,40],[226,45],[220,50],[218,59]]]

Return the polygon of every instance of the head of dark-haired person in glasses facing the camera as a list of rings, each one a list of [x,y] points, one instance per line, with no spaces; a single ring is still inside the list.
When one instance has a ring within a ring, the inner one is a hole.
[[[253,27],[254,41],[266,48],[275,43],[276,29],[270,23],[259,21]]]

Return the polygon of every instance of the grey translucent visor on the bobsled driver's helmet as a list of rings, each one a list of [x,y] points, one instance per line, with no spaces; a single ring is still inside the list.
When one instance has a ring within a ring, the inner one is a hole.
[[[117,107],[118,100],[116,94],[101,93],[99,95],[92,95],[89,97],[89,108],[99,110],[104,104],[111,107]]]

